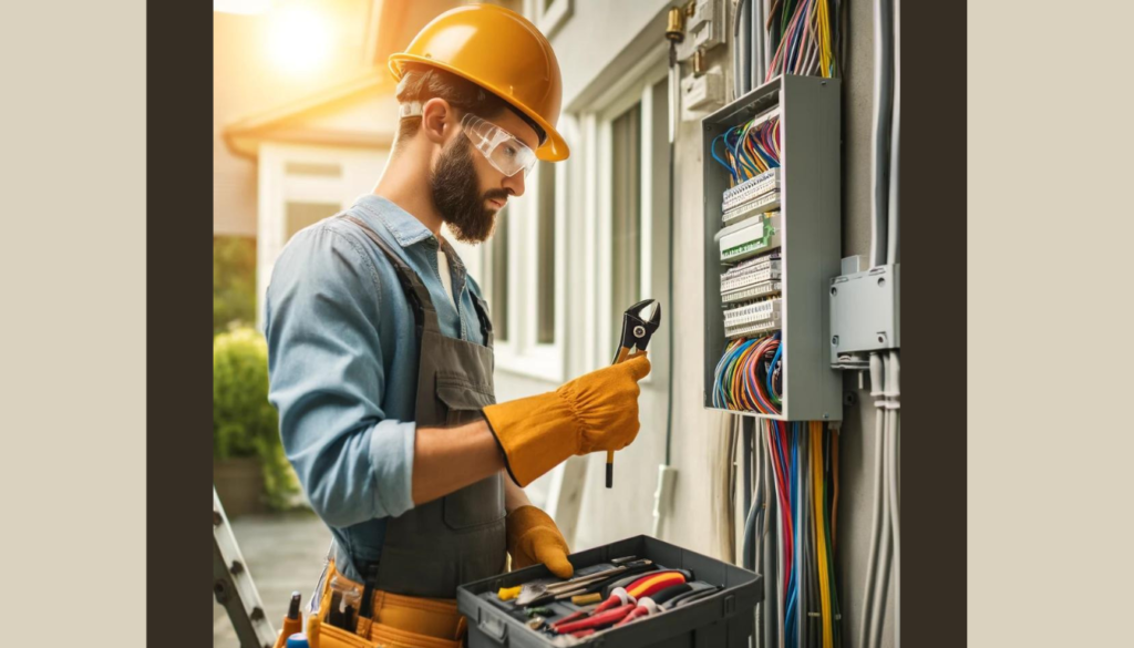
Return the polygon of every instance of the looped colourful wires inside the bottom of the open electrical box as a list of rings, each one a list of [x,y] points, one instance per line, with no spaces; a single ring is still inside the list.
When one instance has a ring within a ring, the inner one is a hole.
[[[713,406],[779,414],[782,353],[779,331],[765,337],[742,337],[730,342],[717,363]]]

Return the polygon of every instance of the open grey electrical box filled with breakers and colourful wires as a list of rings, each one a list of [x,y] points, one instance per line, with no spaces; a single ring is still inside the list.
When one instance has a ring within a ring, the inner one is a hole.
[[[839,103],[838,79],[785,75],[702,120],[705,407],[843,418]]]

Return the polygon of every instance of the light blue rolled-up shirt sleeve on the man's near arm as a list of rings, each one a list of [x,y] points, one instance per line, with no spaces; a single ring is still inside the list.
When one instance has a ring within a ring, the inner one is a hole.
[[[371,260],[327,225],[288,243],[268,287],[269,399],[287,457],[331,527],[413,507],[415,426],[380,403],[380,302]]]

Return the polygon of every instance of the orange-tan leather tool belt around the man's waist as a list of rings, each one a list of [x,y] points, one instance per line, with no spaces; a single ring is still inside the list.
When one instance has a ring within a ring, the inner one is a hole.
[[[465,617],[457,612],[454,599],[422,598],[374,591],[373,615],[358,615],[354,631],[328,623],[331,608],[331,579],[347,587],[363,590],[335,570],[331,561],[328,578],[323,579],[319,614],[307,618],[307,641],[312,648],[460,648],[464,646]],[[287,643],[280,633],[274,648]]]

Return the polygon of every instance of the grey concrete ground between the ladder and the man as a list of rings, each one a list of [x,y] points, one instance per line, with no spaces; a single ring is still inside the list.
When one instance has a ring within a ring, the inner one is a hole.
[[[331,532],[314,513],[247,515],[232,522],[245,563],[272,628],[279,631],[291,592],[306,607],[323,567]],[[213,599],[213,648],[239,648],[228,613]]]

